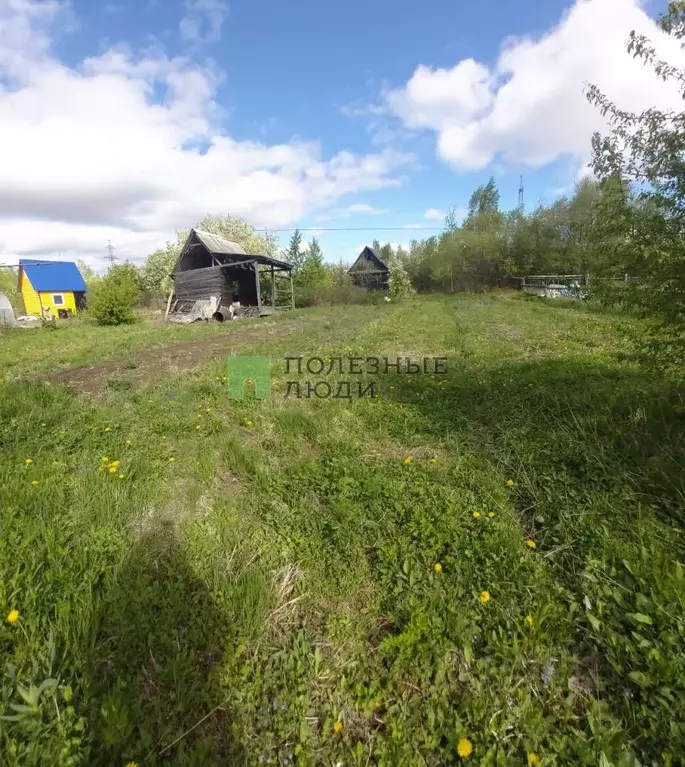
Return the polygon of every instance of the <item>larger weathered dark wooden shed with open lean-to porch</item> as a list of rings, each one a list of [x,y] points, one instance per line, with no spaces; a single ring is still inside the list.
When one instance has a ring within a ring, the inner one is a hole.
[[[232,319],[294,309],[292,266],[191,229],[174,266],[170,319]]]

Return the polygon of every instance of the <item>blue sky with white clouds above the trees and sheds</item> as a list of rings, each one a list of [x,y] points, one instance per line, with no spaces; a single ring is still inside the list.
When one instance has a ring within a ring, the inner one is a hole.
[[[328,260],[351,261],[372,239],[439,231],[490,175],[510,208],[522,174],[532,208],[572,189],[603,128],[585,82],[629,108],[675,103],[625,53],[632,28],[658,36],[659,10],[0,0],[0,142],[13,147],[0,254],[97,266],[111,239],[140,262],[204,212],[227,212],[372,229],[316,233]]]

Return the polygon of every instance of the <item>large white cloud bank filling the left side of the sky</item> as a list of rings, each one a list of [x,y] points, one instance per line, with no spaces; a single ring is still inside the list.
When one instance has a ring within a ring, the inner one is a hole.
[[[400,183],[413,157],[321,156],[317,142],[236,141],[219,126],[223,74],[126,46],[60,62],[68,6],[0,0],[0,259],[24,253],[97,263],[107,239],[141,258],[206,213],[293,225],[341,197]],[[86,260],[88,260],[86,258]]]

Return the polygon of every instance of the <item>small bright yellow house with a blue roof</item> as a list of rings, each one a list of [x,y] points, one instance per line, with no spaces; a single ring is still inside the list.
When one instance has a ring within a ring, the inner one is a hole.
[[[19,260],[18,290],[26,314],[68,317],[86,305],[86,283],[72,261]]]

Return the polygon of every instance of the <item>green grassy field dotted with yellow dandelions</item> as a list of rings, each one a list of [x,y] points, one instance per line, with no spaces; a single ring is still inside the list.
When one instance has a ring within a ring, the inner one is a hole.
[[[493,295],[0,337],[0,763],[685,763],[685,396],[617,324]],[[447,372],[296,399],[286,356]]]

